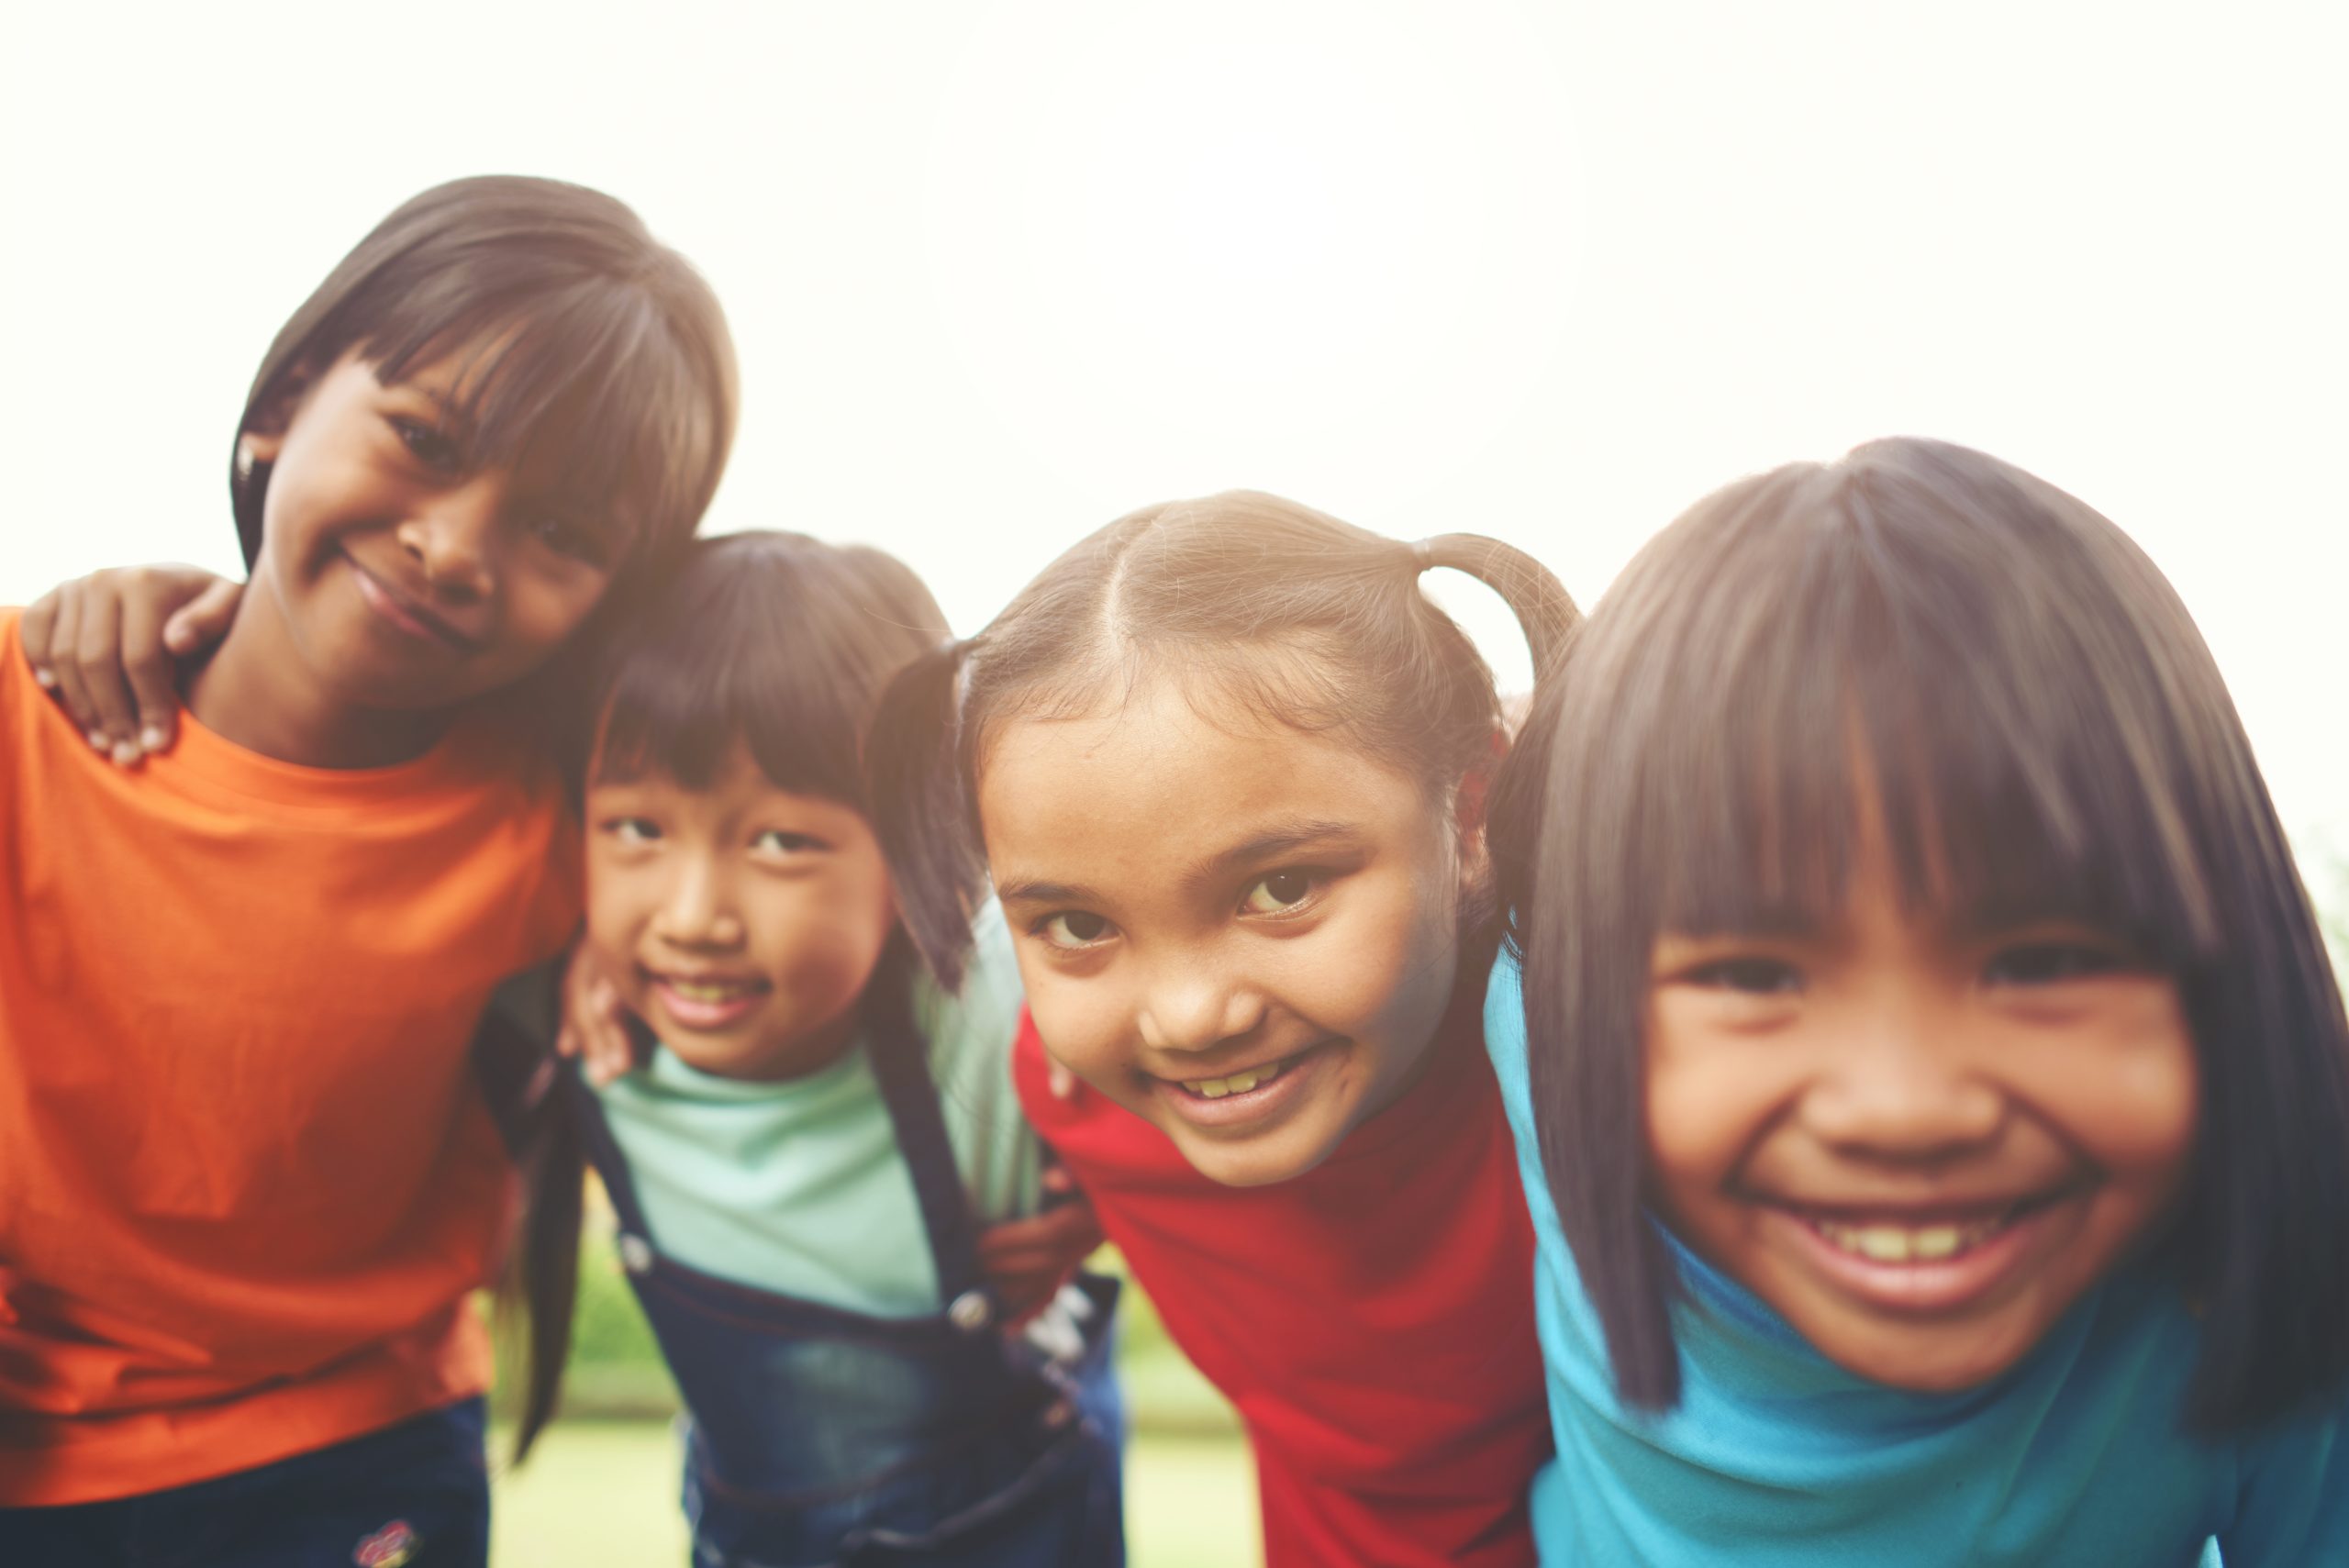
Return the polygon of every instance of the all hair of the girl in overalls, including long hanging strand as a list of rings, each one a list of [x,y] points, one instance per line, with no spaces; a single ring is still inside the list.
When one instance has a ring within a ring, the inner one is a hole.
[[[660,775],[700,791],[742,746],[775,789],[867,812],[862,749],[881,692],[944,634],[930,589],[881,549],[803,533],[698,540],[599,648],[599,723],[573,756],[578,775],[585,786]],[[911,965],[897,937],[867,986],[867,1012],[890,1028],[907,1021]],[[507,1279],[526,1329],[517,1462],[554,1418],[571,1350],[585,1153],[566,1084],[531,1117],[521,1167],[529,1202]]]

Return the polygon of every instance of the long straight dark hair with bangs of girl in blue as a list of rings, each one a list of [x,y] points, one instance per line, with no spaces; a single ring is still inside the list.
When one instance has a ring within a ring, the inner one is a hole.
[[[1680,1397],[1647,1209],[1661,932],[1842,908],[1879,807],[1912,906],[2074,918],[2175,976],[2194,1176],[2156,1246],[2203,1310],[2189,1422],[2349,1376],[2349,1028],[2217,664],[2100,514],[1976,451],[1875,441],[1701,500],[1536,695],[1492,845],[1541,1160],[1626,1401]]]

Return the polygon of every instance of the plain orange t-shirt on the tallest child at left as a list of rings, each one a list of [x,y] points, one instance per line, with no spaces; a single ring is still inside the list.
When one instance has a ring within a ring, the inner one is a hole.
[[[512,1197],[467,1066],[578,922],[550,765],[120,772],[0,610],[0,1507],[268,1465],[477,1394]]]

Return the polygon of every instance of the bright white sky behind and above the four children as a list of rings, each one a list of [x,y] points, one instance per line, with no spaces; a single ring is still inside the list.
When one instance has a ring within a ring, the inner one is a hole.
[[[726,300],[709,526],[879,542],[961,629],[1226,486],[1588,603],[1703,491],[1926,432],[2131,528],[2349,850],[2344,75],[2318,0],[16,2],[0,603],[230,570],[287,312],[423,185],[554,174]]]

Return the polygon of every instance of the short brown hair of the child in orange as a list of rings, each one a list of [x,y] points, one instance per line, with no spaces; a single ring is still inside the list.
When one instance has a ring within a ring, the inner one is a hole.
[[[625,204],[564,181],[479,176],[404,202],[287,319],[237,432],[282,420],[357,350],[385,383],[467,354],[465,455],[552,441],[564,484],[613,514],[615,587],[674,563],[716,493],[735,427],[726,315]],[[268,465],[230,465],[244,563],[261,554]]]

